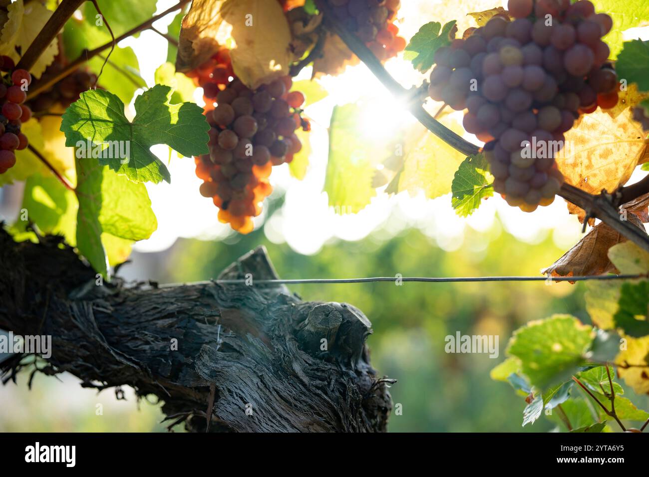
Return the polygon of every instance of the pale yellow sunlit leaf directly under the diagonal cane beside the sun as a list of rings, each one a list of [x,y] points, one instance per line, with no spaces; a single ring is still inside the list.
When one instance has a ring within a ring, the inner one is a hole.
[[[454,121],[446,127],[462,134],[461,125]],[[450,192],[453,177],[466,156],[417,123],[413,125],[404,144],[404,168],[398,191],[410,195],[424,191],[428,199]]]

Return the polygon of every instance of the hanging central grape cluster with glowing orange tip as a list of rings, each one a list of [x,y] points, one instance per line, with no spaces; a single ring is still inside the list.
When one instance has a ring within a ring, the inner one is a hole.
[[[291,162],[302,149],[295,135],[310,123],[301,116],[304,95],[290,92],[293,80],[282,77],[251,90],[234,74],[227,51],[221,50],[189,76],[202,85],[210,134],[210,154],[196,157],[196,175],[204,182],[200,193],[212,197],[219,221],[247,234],[252,217],[262,212],[260,202],[273,188],[268,182],[273,165]]]

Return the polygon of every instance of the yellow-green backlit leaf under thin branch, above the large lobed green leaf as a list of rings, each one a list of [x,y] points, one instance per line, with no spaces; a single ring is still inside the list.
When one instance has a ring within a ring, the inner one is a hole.
[[[110,40],[106,29],[93,27],[85,21],[72,19],[66,23],[63,30],[63,43],[69,58],[77,58],[84,50],[103,45]],[[138,89],[147,87],[147,83],[140,76],[138,58],[130,47],[116,46],[104,65],[106,55],[108,50],[90,58],[88,67],[99,75],[103,66],[99,84],[110,86],[110,92],[117,95],[123,103],[129,104]]]

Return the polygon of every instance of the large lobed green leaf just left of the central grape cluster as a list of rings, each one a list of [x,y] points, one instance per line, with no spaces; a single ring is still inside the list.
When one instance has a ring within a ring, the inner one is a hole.
[[[63,115],[61,130],[66,134],[66,145],[115,141],[123,151],[130,149],[129,157],[99,157],[99,164],[109,165],[134,182],[171,182],[167,167],[149,147],[167,144],[183,156],[207,154],[210,125],[196,104],[169,104],[170,99],[169,86],[158,84],[145,91],[135,100],[137,114],[130,122],[124,116],[124,103],[116,95],[103,90],[81,93]]]

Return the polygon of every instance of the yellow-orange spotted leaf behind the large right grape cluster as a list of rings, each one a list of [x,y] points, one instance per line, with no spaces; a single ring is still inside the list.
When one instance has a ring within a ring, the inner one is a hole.
[[[565,134],[566,147],[556,161],[568,184],[591,194],[612,192],[626,184],[641,164],[647,151],[646,133],[633,121],[626,104],[615,117],[599,109],[586,114]],[[583,222],[582,208],[569,203],[568,210]]]

